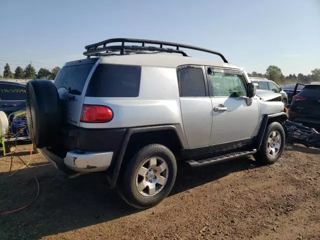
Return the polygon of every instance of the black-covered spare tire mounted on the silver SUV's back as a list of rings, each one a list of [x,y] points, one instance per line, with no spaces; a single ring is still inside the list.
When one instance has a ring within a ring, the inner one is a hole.
[[[32,143],[37,148],[51,146],[61,125],[61,103],[50,80],[30,80],[26,84],[26,114]]]

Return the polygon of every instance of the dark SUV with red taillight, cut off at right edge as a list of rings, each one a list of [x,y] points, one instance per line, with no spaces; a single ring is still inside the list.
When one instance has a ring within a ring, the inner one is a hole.
[[[305,85],[296,95],[293,92],[289,120],[320,130],[320,82]]]

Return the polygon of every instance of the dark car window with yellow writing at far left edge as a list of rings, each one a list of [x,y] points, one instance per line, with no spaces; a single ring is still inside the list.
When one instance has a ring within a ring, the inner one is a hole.
[[[0,99],[25,100],[25,86],[0,83]]]

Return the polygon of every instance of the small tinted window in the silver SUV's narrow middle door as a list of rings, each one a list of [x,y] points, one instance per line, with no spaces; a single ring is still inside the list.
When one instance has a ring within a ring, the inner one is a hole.
[[[179,70],[181,96],[205,96],[202,68],[186,67]]]

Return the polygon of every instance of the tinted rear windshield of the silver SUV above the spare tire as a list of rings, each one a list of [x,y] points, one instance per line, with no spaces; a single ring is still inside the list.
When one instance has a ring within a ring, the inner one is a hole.
[[[54,79],[56,88],[65,87],[69,93],[80,95],[94,63],[62,67]]]

